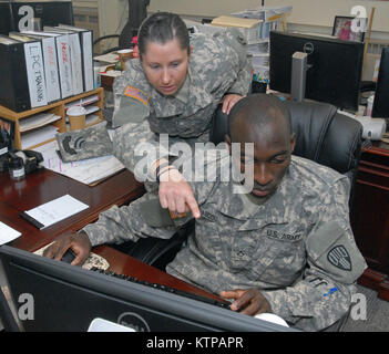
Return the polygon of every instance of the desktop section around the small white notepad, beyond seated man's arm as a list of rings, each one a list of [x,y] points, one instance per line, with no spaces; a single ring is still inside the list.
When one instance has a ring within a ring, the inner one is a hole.
[[[0,186],[1,221],[22,233],[11,246],[27,251],[35,251],[63,232],[76,231],[95,221],[101,211],[136,199],[144,192],[143,185],[129,170],[122,170],[94,187],[49,169],[38,170],[19,181],[3,173],[0,174]],[[20,212],[65,194],[89,205],[89,208],[41,231],[20,217]]]

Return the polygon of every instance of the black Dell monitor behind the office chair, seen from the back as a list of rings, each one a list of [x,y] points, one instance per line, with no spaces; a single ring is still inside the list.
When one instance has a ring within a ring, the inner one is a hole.
[[[364,43],[331,37],[272,31],[269,63],[272,90],[290,93],[291,62],[295,53],[300,53],[300,56],[307,54],[307,69],[301,70],[301,74],[306,74],[303,98],[358,111]]]

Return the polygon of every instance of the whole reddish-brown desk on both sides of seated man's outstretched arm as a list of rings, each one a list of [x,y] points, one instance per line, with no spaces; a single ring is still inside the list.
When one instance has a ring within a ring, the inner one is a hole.
[[[78,231],[86,223],[95,221],[99,214],[112,205],[121,206],[144,194],[143,185],[137,183],[129,170],[120,171],[94,187],[49,169],[28,175],[20,181],[10,179],[9,174],[3,173],[0,174],[0,220],[22,232],[18,239],[10,242],[10,246],[31,252],[50,243],[64,232]],[[64,194],[88,204],[90,208],[44,230],[37,229],[20,217],[21,211],[34,208]],[[105,258],[113,272],[223,301],[212,293],[144,264],[108,246],[99,246],[93,249],[93,252]]]

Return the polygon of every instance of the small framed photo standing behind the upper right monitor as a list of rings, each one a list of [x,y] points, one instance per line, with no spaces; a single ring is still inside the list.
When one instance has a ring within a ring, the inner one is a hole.
[[[364,42],[367,21],[367,18],[337,15],[334,21],[332,35],[345,41]]]

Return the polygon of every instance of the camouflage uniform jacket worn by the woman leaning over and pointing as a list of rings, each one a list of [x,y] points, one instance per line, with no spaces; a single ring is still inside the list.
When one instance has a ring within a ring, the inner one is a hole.
[[[149,83],[139,60],[131,60],[114,81],[113,124],[121,126],[113,139],[114,154],[132,171],[141,158],[134,156],[140,143],[152,144],[160,158],[168,155],[158,147],[160,134],[168,134],[170,143],[184,140],[193,146],[208,142],[212,116],[223,96],[249,91],[250,63],[236,30],[213,37],[197,33],[191,44],[188,73],[174,96],[162,95]],[[150,150],[150,145],[145,149]]]

